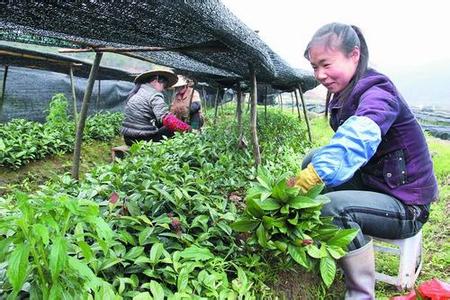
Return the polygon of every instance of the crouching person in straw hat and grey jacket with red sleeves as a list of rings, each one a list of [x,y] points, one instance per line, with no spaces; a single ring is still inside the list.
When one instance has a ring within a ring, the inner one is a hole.
[[[153,70],[140,74],[128,95],[121,133],[128,146],[138,141],[158,142],[176,131],[191,130],[191,126],[169,112],[163,91],[177,82],[172,71]]]

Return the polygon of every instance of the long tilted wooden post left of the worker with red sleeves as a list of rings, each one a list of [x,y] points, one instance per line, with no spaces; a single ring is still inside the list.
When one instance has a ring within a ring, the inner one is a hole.
[[[79,178],[80,171],[80,156],[81,156],[81,143],[83,141],[84,124],[87,118],[87,111],[89,108],[89,101],[91,100],[92,89],[94,87],[95,77],[97,77],[98,67],[102,59],[103,53],[96,52],[95,59],[92,64],[91,72],[89,73],[89,79],[86,86],[86,91],[83,97],[83,103],[81,105],[80,119],[78,120],[77,133],[75,138],[75,147],[73,151],[72,162],[72,177],[76,180]]]

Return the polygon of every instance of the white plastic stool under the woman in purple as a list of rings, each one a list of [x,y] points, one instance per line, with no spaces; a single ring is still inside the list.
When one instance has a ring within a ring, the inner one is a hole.
[[[412,289],[422,270],[422,230],[415,236],[401,240],[388,240],[372,237],[374,250],[394,253],[400,256],[400,267],[397,276],[375,272],[375,279],[395,285],[399,290]],[[398,247],[387,247],[377,242],[384,242]]]

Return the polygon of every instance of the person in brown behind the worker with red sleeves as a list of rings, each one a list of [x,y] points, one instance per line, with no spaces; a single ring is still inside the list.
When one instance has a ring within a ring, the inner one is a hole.
[[[202,104],[199,93],[194,90],[194,80],[185,76],[179,76],[175,84],[176,95],[170,107],[178,119],[188,123],[192,129],[200,129],[203,126]]]

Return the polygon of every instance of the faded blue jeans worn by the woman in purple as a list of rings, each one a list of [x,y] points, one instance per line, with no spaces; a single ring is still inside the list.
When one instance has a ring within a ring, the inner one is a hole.
[[[311,162],[317,150],[304,158],[302,169]],[[364,185],[359,171],[344,184],[325,188],[322,193],[331,200],[322,208],[323,216],[333,217],[333,223],[340,228],[360,229],[348,246],[349,251],[367,243],[364,235],[386,239],[411,237],[428,219],[429,205],[407,205],[374,191]]]

